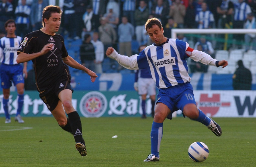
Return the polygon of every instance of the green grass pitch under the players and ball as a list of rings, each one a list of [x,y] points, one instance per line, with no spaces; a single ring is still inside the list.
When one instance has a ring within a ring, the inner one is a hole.
[[[222,127],[221,137],[187,118],[165,120],[159,162],[143,162],[150,153],[150,117],[82,117],[86,157],[80,156],[72,135],[53,117],[23,119],[24,124],[14,122],[13,117],[11,124],[0,119],[1,167],[251,167],[256,162],[255,118],[214,118]],[[21,130],[23,127],[31,129]],[[112,138],[115,135],[118,137]],[[195,141],[209,147],[204,162],[193,162],[188,157],[188,147]]]

